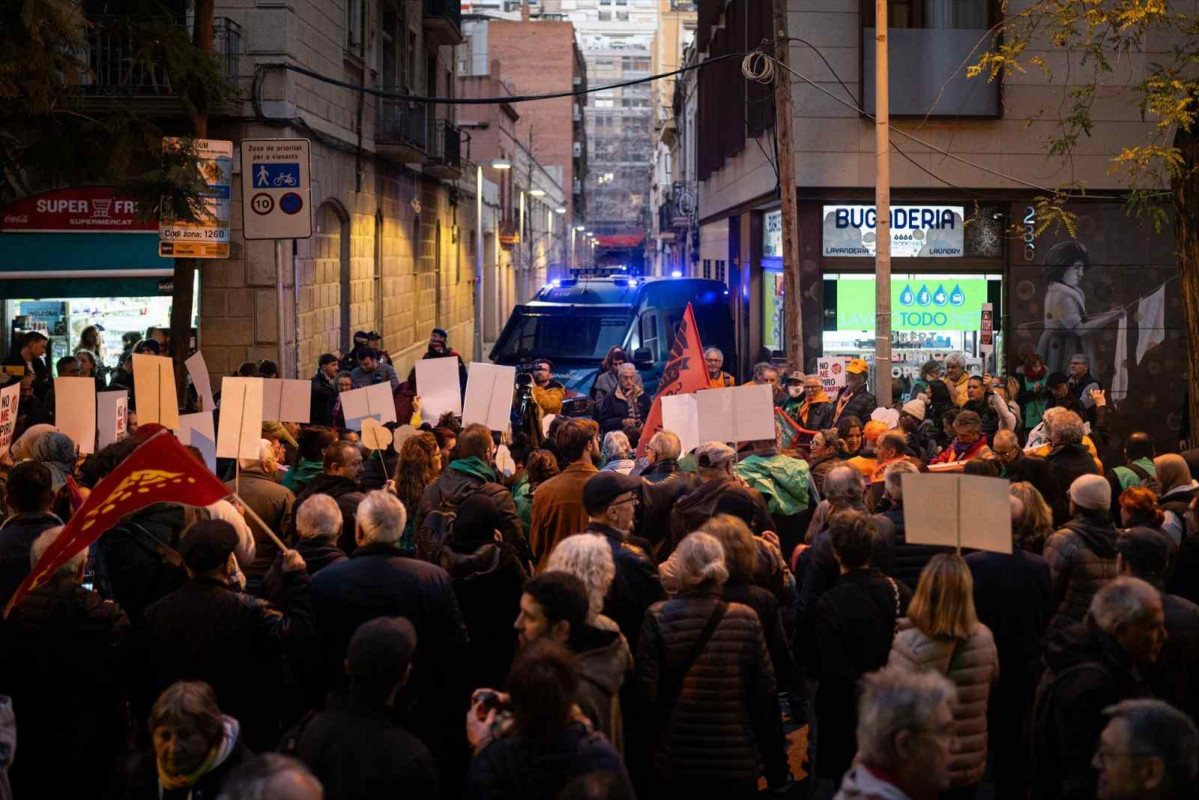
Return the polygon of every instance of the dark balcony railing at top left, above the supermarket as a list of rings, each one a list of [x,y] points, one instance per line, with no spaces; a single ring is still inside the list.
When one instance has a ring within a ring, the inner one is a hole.
[[[174,17],[126,17],[90,14],[83,56],[88,74],[83,78],[83,106],[94,110],[128,108],[140,113],[179,115],[186,113],[179,92],[163,66],[165,53],[155,43],[156,28],[185,28]],[[212,25],[212,53],[228,82],[237,79],[241,55],[241,25],[217,17]]]

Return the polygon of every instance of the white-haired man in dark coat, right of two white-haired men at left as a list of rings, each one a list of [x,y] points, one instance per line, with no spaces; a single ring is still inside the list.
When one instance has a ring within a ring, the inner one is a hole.
[[[445,714],[463,690],[466,624],[450,575],[440,566],[404,557],[399,549],[408,511],[388,492],[370,492],[355,512],[357,548],[349,560],[325,567],[312,579],[317,627],[324,645],[325,687],[344,676],[350,637],[378,616],[404,616],[421,643],[412,666],[411,691],[424,697],[412,729],[436,754],[459,720]],[[448,727],[447,727],[448,726]]]

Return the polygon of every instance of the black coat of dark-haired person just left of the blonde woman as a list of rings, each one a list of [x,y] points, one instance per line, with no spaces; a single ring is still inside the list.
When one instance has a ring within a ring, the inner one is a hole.
[[[817,601],[813,636],[803,643],[809,675],[820,681],[817,769],[838,778],[857,752],[857,681],[887,664],[897,618],[908,613],[911,591],[879,570],[854,570]],[[898,615],[896,606],[898,604]]]

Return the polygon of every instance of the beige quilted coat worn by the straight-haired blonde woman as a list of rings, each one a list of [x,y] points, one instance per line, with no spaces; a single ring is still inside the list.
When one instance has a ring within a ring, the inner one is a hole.
[[[987,769],[987,698],[999,680],[999,651],[982,622],[969,639],[934,639],[910,627],[891,645],[887,666],[935,669],[958,690],[953,708],[952,787],[974,786]]]

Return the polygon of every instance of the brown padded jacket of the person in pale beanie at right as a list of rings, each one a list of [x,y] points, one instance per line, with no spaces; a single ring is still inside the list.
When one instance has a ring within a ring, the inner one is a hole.
[[[1081,622],[1095,594],[1116,577],[1116,530],[1111,515],[1080,512],[1046,542],[1056,612],[1050,631]]]

